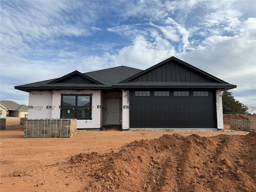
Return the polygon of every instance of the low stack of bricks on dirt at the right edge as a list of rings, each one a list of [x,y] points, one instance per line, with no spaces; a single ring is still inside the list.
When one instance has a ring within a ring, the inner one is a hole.
[[[236,131],[253,131],[256,130],[255,120],[230,120],[230,129]]]

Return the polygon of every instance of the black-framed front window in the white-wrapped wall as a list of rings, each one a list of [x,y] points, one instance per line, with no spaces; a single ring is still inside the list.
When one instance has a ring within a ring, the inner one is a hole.
[[[92,119],[92,94],[62,94],[60,118]]]

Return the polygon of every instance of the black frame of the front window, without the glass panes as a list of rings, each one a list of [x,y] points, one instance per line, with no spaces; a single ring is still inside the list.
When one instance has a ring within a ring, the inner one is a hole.
[[[63,118],[63,108],[65,106],[63,106],[63,97],[64,96],[75,96],[75,106],[74,106],[74,119],[77,119],[77,120],[92,120],[92,94],[60,94],[61,95],[61,101],[60,101],[60,118],[61,119],[72,119],[72,118]],[[81,106],[78,106],[78,96],[89,96],[90,97],[90,109],[89,109],[89,113],[90,113],[90,117],[88,118],[78,118],[78,107],[81,107]]]

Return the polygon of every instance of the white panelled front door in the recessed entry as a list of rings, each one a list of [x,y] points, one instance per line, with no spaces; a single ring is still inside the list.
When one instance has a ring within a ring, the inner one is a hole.
[[[108,125],[119,125],[118,99],[108,99]]]

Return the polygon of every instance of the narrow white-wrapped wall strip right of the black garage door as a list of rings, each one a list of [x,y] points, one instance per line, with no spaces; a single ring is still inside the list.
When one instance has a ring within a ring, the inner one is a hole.
[[[216,90],[216,112],[217,112],[217,128],[224,129],[223,125],[223,109],[222,109],[222,94],[221,90]]]

